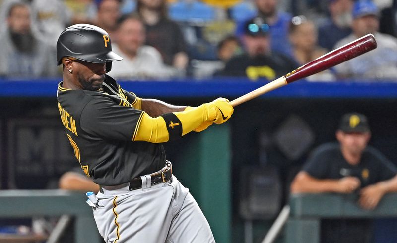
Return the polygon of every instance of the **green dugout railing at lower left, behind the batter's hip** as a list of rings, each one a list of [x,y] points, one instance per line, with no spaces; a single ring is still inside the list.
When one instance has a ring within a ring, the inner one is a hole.
[[[75,243],[103,242],[86,200],[82,192],[0,190],[0,218],[70,215],[74,218]]]

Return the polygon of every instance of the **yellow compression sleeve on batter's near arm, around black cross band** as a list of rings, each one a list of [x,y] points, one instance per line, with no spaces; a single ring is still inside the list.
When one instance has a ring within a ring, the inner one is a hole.
[[[167,124],[164,115],[164,117],[152,118],[143,113],[133,141],[167,142],[170,140],[170,134],[172,139],[175,138],[173,137],[175,136],[173,129],[180,129],[181,126],[182,134],[180,136],[183,136],[199,127],[202,122],[213,121],[216,117],[216,108],[213,103],[206,103],[183,112],[173,112],[172,114],[175,115],[176,119],[175,121],[168,121],[169,124]]]

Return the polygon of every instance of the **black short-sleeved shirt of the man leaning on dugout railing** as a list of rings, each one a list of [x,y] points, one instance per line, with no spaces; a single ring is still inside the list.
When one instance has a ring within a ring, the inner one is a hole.
[[[318,179],[357,177],[361,181],[361,187],[391,179],[397,173],[396,166],[371,146],[364,150],[359,164],[349,164],[338,143],[324,144],[315,149],[303,170]]]

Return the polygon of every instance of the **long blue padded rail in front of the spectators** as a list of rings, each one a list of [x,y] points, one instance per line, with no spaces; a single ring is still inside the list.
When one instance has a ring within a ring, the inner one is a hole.
[[[61,79],[9,80],[0,79],[0,97],[42,96],[54,97]],[[245,78],[214,78],[205,80],[179,79],[176,81],[120,81],[125,90],[140,97],[237,97],[246,94],[266,81],[252,82]],[[372,82],[343,80],[337,82],[308,82],[300,80],[265,94],[265,97],[312,98],[388,98],[397,97],[397,80]]]

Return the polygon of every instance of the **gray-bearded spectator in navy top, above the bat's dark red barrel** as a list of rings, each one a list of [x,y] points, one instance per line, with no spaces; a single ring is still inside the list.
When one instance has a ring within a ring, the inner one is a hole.
[[[319,24],[319,45],[331,51],[336,42],[351,34],[353,0],[328,0],[330,18]]]

